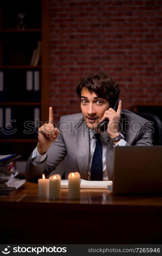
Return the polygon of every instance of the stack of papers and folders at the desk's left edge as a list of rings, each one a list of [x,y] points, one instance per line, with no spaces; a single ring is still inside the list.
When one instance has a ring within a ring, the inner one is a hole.
[[[18,172],[16,170],[15,159],[20,155],[0,155],[0,195],[8,195],[14,189],[17,189],[25,180],[16,178]]]

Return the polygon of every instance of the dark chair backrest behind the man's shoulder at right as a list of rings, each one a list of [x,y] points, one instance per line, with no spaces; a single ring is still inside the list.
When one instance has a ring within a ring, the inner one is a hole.
[[[162,123],[154,114],[147,112],[134,112],[135,114],[153,122],[154,132],[152,133],[153,145],[162,145]]]

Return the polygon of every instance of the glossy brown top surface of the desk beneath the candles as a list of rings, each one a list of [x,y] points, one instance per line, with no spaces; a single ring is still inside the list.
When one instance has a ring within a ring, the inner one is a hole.
[[[113,195],[109,189],[80,189],[79,200],[68,199],[68,189],[61,189],[61,200],[39,198],[38,184],[26,182],[9,196],[0,196],[0,202],[35,202],[48,204],[90,204],[90,205],[129,205],[162,207],[161,195]]]

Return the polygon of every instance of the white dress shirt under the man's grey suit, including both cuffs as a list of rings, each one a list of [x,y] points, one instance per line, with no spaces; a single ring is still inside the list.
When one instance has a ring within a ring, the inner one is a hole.
[[[94,130],[90,130],[90,154],[89,154],[89,170],[88,170],[88,180],[91,180],[91,164],[92,164],[92,158],[96,147],[96,137]],[[102,144],[102,167],[103,167],[103,180],[109,180],[109,177],[107,176],[106,172],[106,147],[107,147],[107,140],[103,139],[102,136],[100,137],[101,144]],[[125,146],[126,141],[124,139],[119,140],[119,142],[114,146]],[[108,153],[109,154],[109,153]],[[45,153],[43,156],[39,154],[37,151],[37,147],[33,151],[32,154],[32,162],[34,165],[41,164],[47,157],[47,153]]]

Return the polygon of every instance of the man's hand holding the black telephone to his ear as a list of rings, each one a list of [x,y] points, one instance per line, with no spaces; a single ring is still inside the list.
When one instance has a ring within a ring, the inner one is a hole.
[[[109,134],[111,139],[119,135],[118,129],[119,129],[120,114],[121,114],[121,106],[122,106],[122,101],[119,100],[117,112],[114,109],[109,108],[109,110],[105,111],[102,119],[100,120],[100,122],[102,122],[106,118],[109,119],[109,124],[107,126],[107,133]]]

